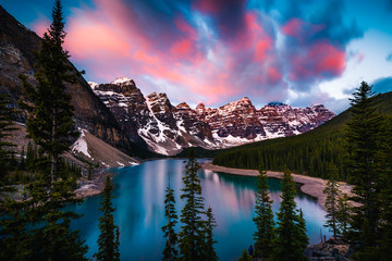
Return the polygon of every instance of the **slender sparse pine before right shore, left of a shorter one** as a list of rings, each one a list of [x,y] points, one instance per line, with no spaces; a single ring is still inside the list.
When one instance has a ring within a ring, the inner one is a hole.
[[[327,186],[323,189],[323,192],[327,195],[326,199],[326,224],[324,226],[330,227],[333,233],[333,238],[336,239],[336,235],[340,234],[338,231],[338,201],[341,191],[339,190],[339,184],[336,182],[338,178],[338,169],[332,163],[328,167],[330,173],[330,178],[327,182]]]

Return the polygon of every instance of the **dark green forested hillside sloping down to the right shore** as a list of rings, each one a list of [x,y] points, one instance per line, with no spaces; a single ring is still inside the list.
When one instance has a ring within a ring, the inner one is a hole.
[[[392,92],[379,95],[377,100],[382,113],[392,114]],[[350,114],[348,109],[298,136],[269,139],[219,151],[213,158],[213,164],[258,169],[259,164],[264,163],[271,171],[281,171],[287,166],[295,173],[327,178],[327,165],[333,162],[340,170],[341,178],[346,179],[343,164],[346,153],[344,128]]]

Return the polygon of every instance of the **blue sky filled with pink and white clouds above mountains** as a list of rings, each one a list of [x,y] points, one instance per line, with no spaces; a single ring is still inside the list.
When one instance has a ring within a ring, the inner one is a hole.
[[[64,48],[85,78],[133,78],[173,104],[248,97],[323,103],[335,113],[362,80],[392,90],[392,0],[63,0]],[[42,35],[53,0],[0,0]]]

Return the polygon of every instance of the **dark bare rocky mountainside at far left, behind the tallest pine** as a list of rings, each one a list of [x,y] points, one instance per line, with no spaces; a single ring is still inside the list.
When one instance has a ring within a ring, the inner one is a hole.
[[[32,84],[36,84],[34,53],[39,51],[40,47],[40,37],[19,23],[0,5],[0,92],[11,95],[15,107],[19,99],[24,99],[19,75],[24,74]],[[75,67],[74,71],[77,72]],[[70,84],[66,88],[72,97],[77,127],[87,129],[130,154],[154,156],[147,150],[144,140],[140,139],[136,145],[127,133],[122,132],[112,112],[93,92],[82,75],[78,76],[76,84]],[[26,116],[21,113],[15,120],[23,123]]]

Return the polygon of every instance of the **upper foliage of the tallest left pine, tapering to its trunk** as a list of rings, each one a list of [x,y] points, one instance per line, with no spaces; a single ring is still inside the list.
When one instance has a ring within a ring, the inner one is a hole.
[[[52,23],[48,33],[44,34],[42,48],[36,59],[35,79],[37,86],[21,75],[26,98],[30,103],[20,102],[28,112],[27,137],[33,138],[39,150],[50,162],[51,178],[57,174],[60,154],[69,150],[70,137],[75,136],[73,126],[73,107],[66,94],[66,85],[76,83],[78,74],[72,73],[73,67],[68,61],[68,51],[63,50],[65,32],[62,5],[54,2]]]

